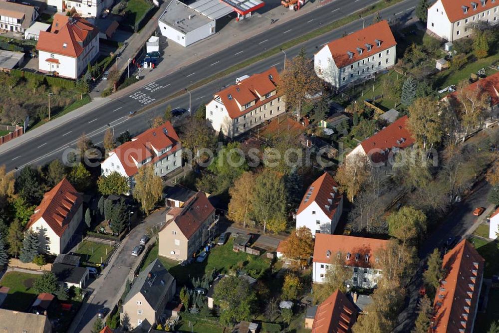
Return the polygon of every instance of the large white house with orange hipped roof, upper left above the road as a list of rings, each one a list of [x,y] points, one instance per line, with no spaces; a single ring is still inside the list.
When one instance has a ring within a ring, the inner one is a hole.
[[[50,31],[40,31],[38,70],[77,79],[99,54],[99,31],[79,16],[55,14]]]

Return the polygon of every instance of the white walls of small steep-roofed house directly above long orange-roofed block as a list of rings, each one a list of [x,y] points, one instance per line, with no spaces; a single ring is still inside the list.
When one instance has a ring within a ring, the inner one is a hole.
[[[324,211],[319,207],[319,205],[314,201],[302,212],[296,215],[296,229],[300,227],[307,227],[312,232],[312,236],[315,237],[317,232],[323,234],[332,234],[338,225],[339,218],[343,211],[343,198],[336,208],[333,218],[330,219],[329,216],[324,213]]]

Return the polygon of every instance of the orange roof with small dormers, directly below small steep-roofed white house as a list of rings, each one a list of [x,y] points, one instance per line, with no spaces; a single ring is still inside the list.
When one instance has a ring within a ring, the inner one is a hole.
[[[313,262],[330,263],[341,253],[345,256],[347,266],[371,267],[376,251],[385,247],[387,243],[388,241],[384,239],[315,234]],[[348,254],[350,254],[350,259],[347,260]]]

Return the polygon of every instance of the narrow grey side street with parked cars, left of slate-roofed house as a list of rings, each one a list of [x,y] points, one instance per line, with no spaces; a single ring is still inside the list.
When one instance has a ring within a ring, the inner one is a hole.
[[[114,307],[121,297],[121,290],[129,274],[133,273],[132,269],[140,261],[140,257],[133,257],[130,252],[139,244],[140,238],[147,232],[149,226],[161,223],[165,218],[164,209],[156,211],[130,231],[114,253],[109,266],[88,286],[93,291],[78,312],[69,332],[91,332],[97,312],[102,308],[111,310]]]

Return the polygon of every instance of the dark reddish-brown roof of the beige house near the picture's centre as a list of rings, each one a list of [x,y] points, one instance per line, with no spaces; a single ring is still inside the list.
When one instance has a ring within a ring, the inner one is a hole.
[[[173,208],[173,218],[165,224],[176,223],[184,236],[189,239],[215,211],[206,194],[197,192],[184,203],[182,208]],[[164,228],[164,227],[163,227]]]

